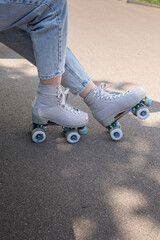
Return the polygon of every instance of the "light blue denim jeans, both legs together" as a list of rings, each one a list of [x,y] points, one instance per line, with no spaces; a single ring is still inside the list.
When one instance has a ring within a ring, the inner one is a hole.
[[[0,42],[37,66],[41,79],[62,75],[74,94],[90,77],[66,47],[66,0],[0,0]]]

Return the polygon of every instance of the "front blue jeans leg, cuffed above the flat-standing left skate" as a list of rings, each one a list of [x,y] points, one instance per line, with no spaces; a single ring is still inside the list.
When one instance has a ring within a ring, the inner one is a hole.
[[[0,0],[0,31],[25,28],[41,79],[64,73],[67,18],[66,0]]]

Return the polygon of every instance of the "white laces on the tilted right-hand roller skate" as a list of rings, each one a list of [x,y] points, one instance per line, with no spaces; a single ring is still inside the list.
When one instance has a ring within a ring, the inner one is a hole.
[[[108,91],[107,89],[110,88],[113,84],[110,84],[109,86],[106,86],[106,83],[101,83],[100,86],[98,86],[94,90],[94,95],[98,96],[98,99],[116,99],[125,96],[126,94],[129,94],[130,91],[127,91],[125,93],[118,93],[115,90]]]

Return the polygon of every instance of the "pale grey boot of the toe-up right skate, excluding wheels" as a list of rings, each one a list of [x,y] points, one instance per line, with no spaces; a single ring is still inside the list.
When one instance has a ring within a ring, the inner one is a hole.
[[[101,84],[92,90],[84,101],[90,107],[94,118],[107,127],[117,114],[134,107],[144,97],[145,91],[141,87],[120,94],[106,91],[105,84]]]

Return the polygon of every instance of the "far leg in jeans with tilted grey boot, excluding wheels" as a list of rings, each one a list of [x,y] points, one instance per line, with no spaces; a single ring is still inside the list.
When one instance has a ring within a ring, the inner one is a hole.
[[[15,41],[12,39],[13,36]],[[3,34],[0,33],[0,41],[36,65],[29,33],[20,28],[10,29]],[[73,94],[79,94],[84,98],[93,116],[102,125],[109,125],[113,115],[134,106],[145,95],[141,88],[118,95],[104,91],[103,87],[96,87],[69,48],[66,51],[62,85],[68,87]]]

